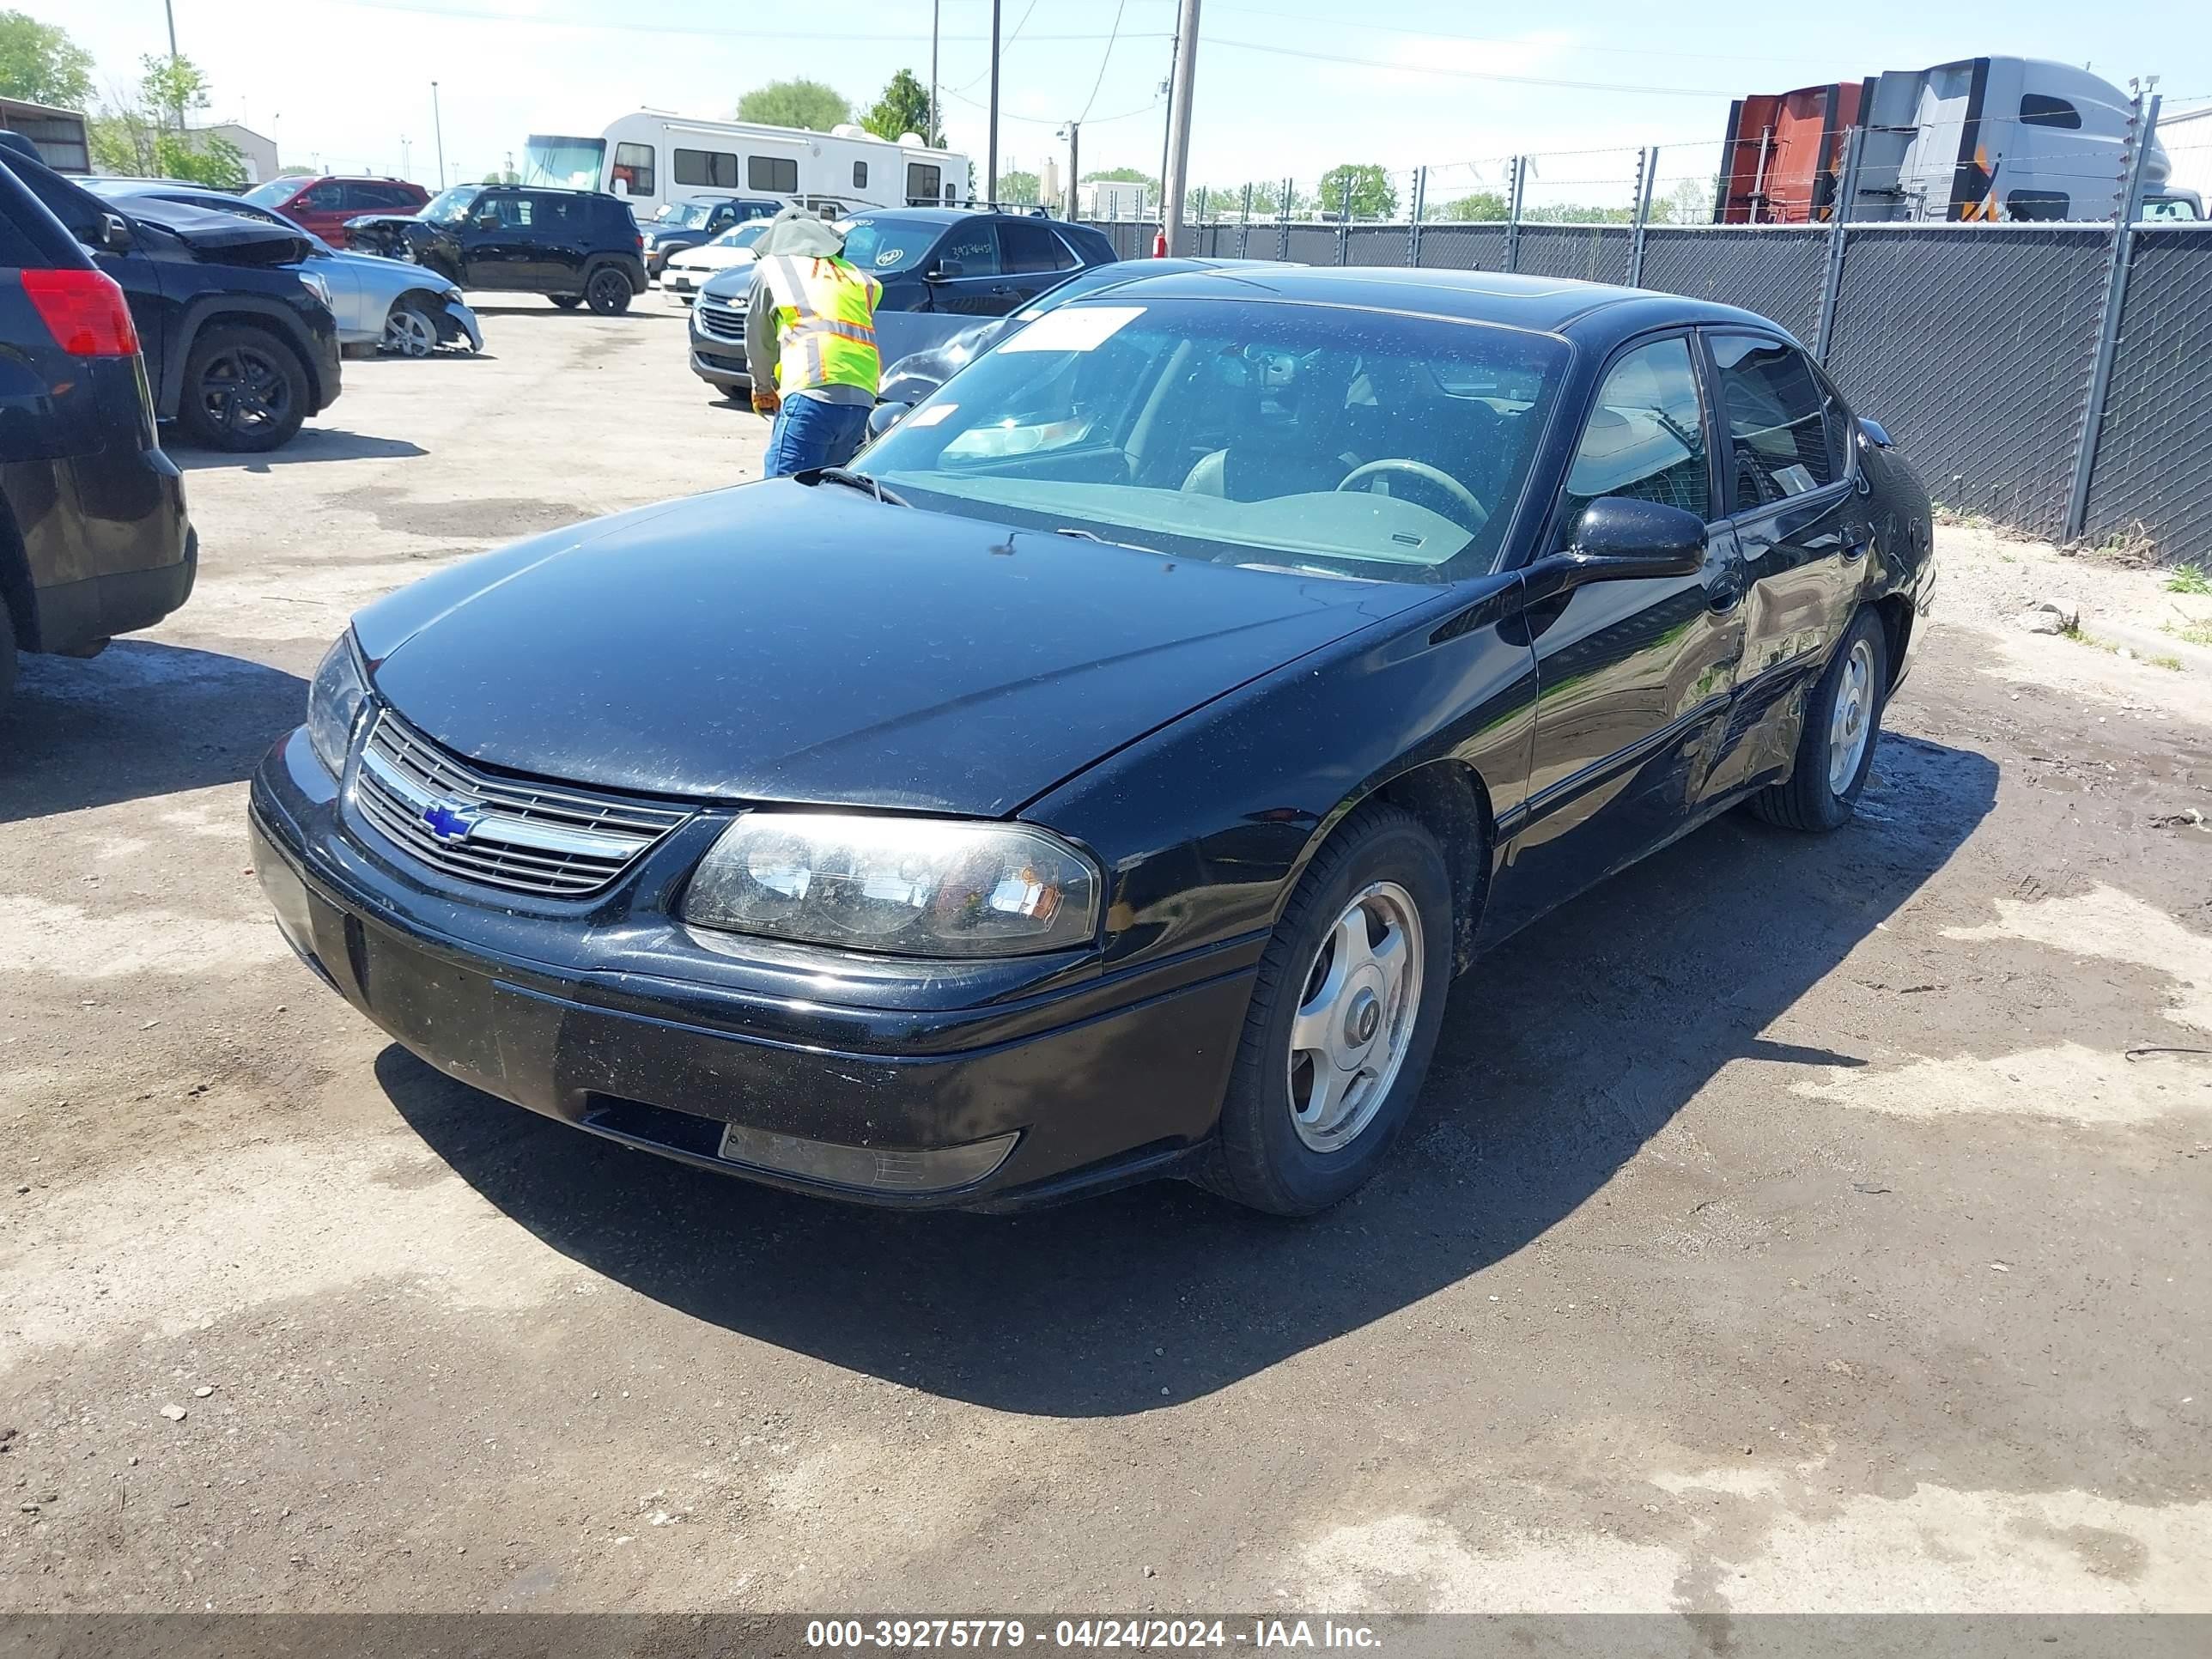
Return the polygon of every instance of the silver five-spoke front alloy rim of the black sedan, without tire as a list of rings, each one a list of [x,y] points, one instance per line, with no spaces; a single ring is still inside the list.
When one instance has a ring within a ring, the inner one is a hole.
[[[1336,916],[1290,1024],[1290,1121],[1316,1152],[1349,1146],[1413,1042],[1422,938],[1413,896],[1378,880]]]

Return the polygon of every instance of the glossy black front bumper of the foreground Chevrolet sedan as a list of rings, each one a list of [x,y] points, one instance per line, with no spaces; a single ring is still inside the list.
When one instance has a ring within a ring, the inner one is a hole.
[[[604,900],[533,907],[409,872],[303,732],[250,803],[263,891],[332,989],[447,1075],[595,1135],[863,1203],[1024,1208],[1170,1175],[1212,1133],[1256,945],[1113,980],[916,964],[900,987],[878,962],[872,1002],[825,1002],[836,978],[787,949],[748,962],[668,918],[719,832],[692,827]]]

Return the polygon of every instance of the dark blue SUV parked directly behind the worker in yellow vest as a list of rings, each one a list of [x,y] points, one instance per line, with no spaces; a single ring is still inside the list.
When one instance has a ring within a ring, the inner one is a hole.
[[[1029,212],[883,208],[838,223],[845,259],[883,283],[878,312],[1004,316],[1075,272],[1115,261],[1113,243],[1091,226]],[[752,265],[714,272],[692,305],[692,374],[732,398],[752,385],[745,374],[752,274]]]

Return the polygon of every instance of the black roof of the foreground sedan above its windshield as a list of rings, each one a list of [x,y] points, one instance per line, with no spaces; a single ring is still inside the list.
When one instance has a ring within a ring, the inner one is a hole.
[[[1144,261],[1130,259],[1130,265]],[[1584,283],[1571,276],[1515,276],[1478,270],[1405,270],[1391,265],[1265,265],[1133,276],[1117,283],[1128,299],[1223,299],[1228,290],[1307,305],[1352,305],[1376,312],[1449,316],[1467,323],[1504,323],[1537,334],[1606,343],[1668,323],[1736,323],[1783,332],[1756,312],[1646,288]],[[1082,301],[1071,301],[1079,305]]]

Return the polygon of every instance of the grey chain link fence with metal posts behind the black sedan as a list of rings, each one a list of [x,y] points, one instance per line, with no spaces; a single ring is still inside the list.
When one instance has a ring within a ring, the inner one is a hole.
[[[1121,257],[1155,226],[1099,223]],[[1741,305],[1820,349],[1944,507],[2035,535],[2212,562],[2212,226],[2137,226],[2104,343],[2112,226],[1345,223],[1186,226],[1177,252],[1301,265],[1635,283]],[[1834,294],[1823,319],[1823,294]],[[1823,325],[1825,323],[1825,325]],[[2112,352],[2101,425],[2099,349]],[[2075,520],[2081,440],[2097,429]]]

